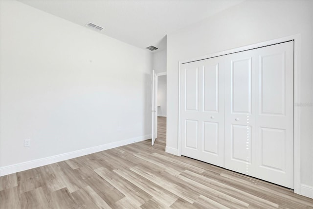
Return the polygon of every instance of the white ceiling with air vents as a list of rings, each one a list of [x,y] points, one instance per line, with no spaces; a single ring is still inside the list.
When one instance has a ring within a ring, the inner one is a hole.
[[[166,48],[166,34],[243,0],[21,0],[70,22],[95,23],[101,33],[145,48]],[[158,51],[158,50],[157,50]]]

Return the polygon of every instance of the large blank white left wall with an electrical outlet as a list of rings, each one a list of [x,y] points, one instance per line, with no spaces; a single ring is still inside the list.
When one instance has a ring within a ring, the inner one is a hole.
[[[1,168],[151,138],[150,52],[0,2]]]

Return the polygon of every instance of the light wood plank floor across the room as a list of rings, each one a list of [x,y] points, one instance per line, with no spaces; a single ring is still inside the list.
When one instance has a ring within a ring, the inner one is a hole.
[[[1,209],[313,208],[313,199],[207,163],[165,153],[158,139],[0,177]]]

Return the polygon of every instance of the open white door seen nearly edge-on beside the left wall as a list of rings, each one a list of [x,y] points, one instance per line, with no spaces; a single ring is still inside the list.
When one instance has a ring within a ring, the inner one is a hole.
[[[152,70],[152,146],[157,137],[157,76],[155,70]]]

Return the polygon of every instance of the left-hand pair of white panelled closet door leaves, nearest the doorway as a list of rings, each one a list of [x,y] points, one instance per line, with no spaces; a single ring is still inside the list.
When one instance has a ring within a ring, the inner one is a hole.
[[[224,72],[220,58],[181,65],[181,154],[224,166]]]

